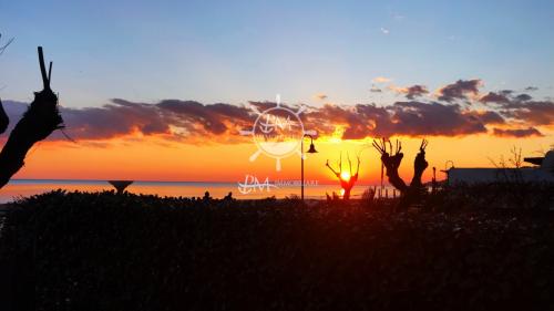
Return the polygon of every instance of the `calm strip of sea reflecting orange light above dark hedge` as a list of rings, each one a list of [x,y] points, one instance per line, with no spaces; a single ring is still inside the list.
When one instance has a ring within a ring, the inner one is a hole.
[[[352,189],[353,198],[360,197],[368,185],[359,185]],[[18,197],[27,197],[54,189],[64,189],[68,191],[101,191],[111,190],[113,187],[105,180],[55,180],[55,179],[13,179],[4,188],[0,189],[0,203],[11,201]],[[253,188],[249,194],[240,194],[237,183],[196,183],[196,182],[135,182],[126,188],[133,194],[148,194],[160,196],[183,196],[202,197],[206,190],[212,197],[222,198],[229,191],[237,199],[256,199],[276,196],[284,198],[290,195],[300,195],[300,186],[286,185],[279,187]],[[340,193],[340,186],[329,185],[308,185],[305,187],[307,198],[325,198],[325,194]],[[389,190],[392,195],[392,190]]]

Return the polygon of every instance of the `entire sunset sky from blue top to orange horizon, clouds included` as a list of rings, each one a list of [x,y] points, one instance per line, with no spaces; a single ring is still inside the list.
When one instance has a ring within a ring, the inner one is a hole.
[[[114,2],[0,4],[10,126],[41,90],[42,45],[73,139],[33,147],[17,178],[298,179],[297,155],[276,172],[239,134],[277,94],[318,132],[308,179],[348,152],[377,183],[373,137],[404,143],[407,179],[422,137],[438,169],[554,144],[553,1]]]

